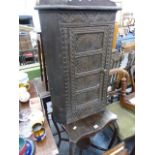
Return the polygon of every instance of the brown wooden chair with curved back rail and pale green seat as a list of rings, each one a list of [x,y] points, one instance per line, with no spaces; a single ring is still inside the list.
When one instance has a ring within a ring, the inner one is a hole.
[[[107,110],[117,115],[117,138],[118,141],[125,141],[135,136],[135,114],[134,105],[131,104],[129,99],[134,97],[134,93],[130,96],[126,95],[126,83],[129,80],[129,74],[124,69],[112,69],[111,74],[119,74],[121,76],[121,96],[120,101],[114,102],[107,106]]]

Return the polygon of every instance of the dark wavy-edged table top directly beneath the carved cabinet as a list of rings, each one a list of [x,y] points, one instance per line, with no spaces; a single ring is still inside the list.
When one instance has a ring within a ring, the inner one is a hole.
[[[63,126],[70,137],[70,141],[76,143],[83,137],[99,132],[106,125],[116,120],[117,116],[106,110]]]

